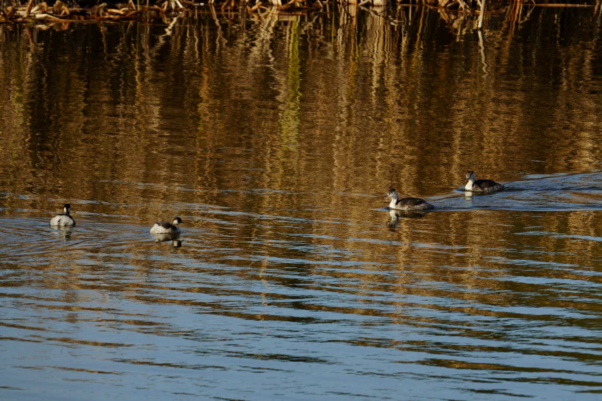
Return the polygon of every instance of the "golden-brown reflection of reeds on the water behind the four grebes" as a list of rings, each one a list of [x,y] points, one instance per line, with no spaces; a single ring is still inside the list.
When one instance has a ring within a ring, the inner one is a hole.
[[[570,32],[565,46],[538,43],[564,60],[547,71],[538,52],[508,35],[541,35],[535,16],[556,28],[562,19],[535,10],[514,28],[490,26],[479,49],[462,37],[438,44],[450,29],[439,11],[340,11],[337,19],[264,11],[244,29],[215,9],[167,28],[130,24],[102,28],[101,35],[98,26],[26,28],[28,37],[2,45],[0,71],[14,83],[0,90],[10,99],[0,127],[0,146],[11,155],[2,162],[12,173],[5,187],[52,187],[61,197],[157,209],[162,201],[153,189],[124,192],[98,179],[168,186],[183,180],[216,200],[218,189],[246,185],[220,164],[219,149],[228,148],[228,158],[265,171],[267,188],[303,191],[317,180],[320,188],[371,194],[403,183],[409,194],[433,195],[459,184],[467,167],[509,180],[514,171],[552,171],[551,162],[554,170],[589,168],[599,158],[592,129],[598,102],[578,84],[595,78],[594,53]],[[2,35],[10,39],[6,28]],[[73,47],[78,35],[86,41]],[[59,69],[58,55],[73,58]],[[541,79],[531,78],[534,70]],[[576,96],[560,96],[561,89]],[[545,121],[535,107],[550,111]],[[539,135],[549,130],[551,136]],[[501,156],[518,154],[523,161]],[[17,160],[34,168],[19,170]],[[71,188],[87,176],[83,167],[96,181]],[[302,174],[314,169],[329,174]],[[187,196],[211,201],[199,193]],[[324,196],[337,204],[336,196]]]

